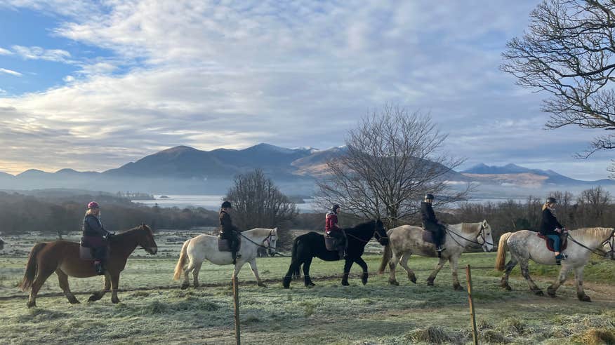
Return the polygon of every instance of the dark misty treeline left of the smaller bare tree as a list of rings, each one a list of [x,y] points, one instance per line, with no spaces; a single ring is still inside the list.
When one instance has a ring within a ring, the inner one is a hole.
[[[0,192],[0,232],[20,234],[41,231],[62,236],[70,231],[79,231],[86,205],[93,200],[100,204],[102,223],[109,231],[131,229],[142,222],[154,230],[218,225],[217,212],[204,208],[148,207],[111,194],[45,198]]]

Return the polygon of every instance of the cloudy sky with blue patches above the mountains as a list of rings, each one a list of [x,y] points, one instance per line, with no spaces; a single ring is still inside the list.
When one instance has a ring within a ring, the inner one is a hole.
[[[177,145],[326,149],[385,104],[477,163],[607,177],[593,130],[501,72],[538,1],[0,0],[0,171],[102,171]]]

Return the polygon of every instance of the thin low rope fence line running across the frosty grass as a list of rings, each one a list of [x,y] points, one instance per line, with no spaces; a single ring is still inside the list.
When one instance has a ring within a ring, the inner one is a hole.
[[[486,267],[486,266],[477,266],[477,267],[473,267],[472,269],[494,269],[494,267]],[[413,272],[431,272],[433,271],[433,269],[416,269],[416,270],[412,270]],[[201,272],[202,273],[202,272]],[[368,272],[368,274],[370,276],[378,276],[378,275],[385,275],[385,272],[383,273],[378,273],[376,272]],[[303,278],[303,274],[301,275],[301,278]],[[310,276],[310,278],[314,278],[314,279],[321,279],[321,280],[333,280],[333,279],[340,279],[343,277],[343,273],[332,273],[332,274],[328,274],[328,275],[318,275],[318,276]],[[363,276],[363,273],[349,273],[349,278],[361,278]],[[202,276],[199,275],[199,278],[201,278]],[[262,279],[263,283],[282,283],[282,278],[267,278],[267,279]],[[298,278],[300,279],[300,278]],[[191,279],[192,280],[192,279]],[[121,280],[120,280],[121,281]],[[199,283],[199,288],[219,288],[220,286],[225,286],[227,285],[228,287],[232,286],[232,277],[230,277],[230,279],[216,279],[216,280],[207,280],[207,283]],[[242,285],[256,285],[256,280],[254,280],[253,278],[250,280],[242,280]],[[199,289],[197,288],[197,289]],[[128,289],[118,289],[117,292],[138,292],[138,291],[147,291],[147,290],[173,290],[173,289],[177,289],[180,290],[180,284],[176,284],[176,285],[156,285],[156,286],[145,286],[145,287],[141,287],[141,288],[128,288]],[[194,289],[193,286],[191,286],[188,289]],[[93,294],[93,292],[98,292],[100,290],[91,290],[91,291],[72,291],[72,293],[74,295],[91,295]],[[110,292],[111,290],[109,290],[108,292]],[[39,293],[38,297],[62,297],[65,296],[64,292],[48,292],[48,293]],[[12,299],[27,299],[28,295],[25,293],[25,295],[9,295],[9,296],[0,296],[0,301],[8,301],[8,300],[12,300]]]

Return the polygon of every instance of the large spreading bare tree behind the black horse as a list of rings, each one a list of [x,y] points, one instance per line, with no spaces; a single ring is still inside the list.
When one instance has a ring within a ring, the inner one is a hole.
[[[345,153],[327,162],[317,200],[390,225],[416,214],[424,194],[436,194],[436,205],[460,201],[469,189],[453,191],[447,184],[462,160],[440,152],[446,139],[429,116],[386,106],[350,130]]]

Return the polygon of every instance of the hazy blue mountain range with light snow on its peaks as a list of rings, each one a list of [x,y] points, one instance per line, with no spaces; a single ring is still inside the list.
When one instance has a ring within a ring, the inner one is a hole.
[[[265,143],[241,150],[202,151],[178,146],[104,172],[78,172],[68,168],[57,172],[32,169],[15,176],[0,172],[0,189],[76,188],[152,194],[223,194],[235,175],[260,168],[287,193],[311,195],[315,179],[326,175],[326,161],[345,151],[346,147],[288,149]],[[481,163],[461,172],[451,171],[446,179],[495,187],[615,185],[612,180],[581,181],[553,170],[529,169],[515,164],[489,166]]]

